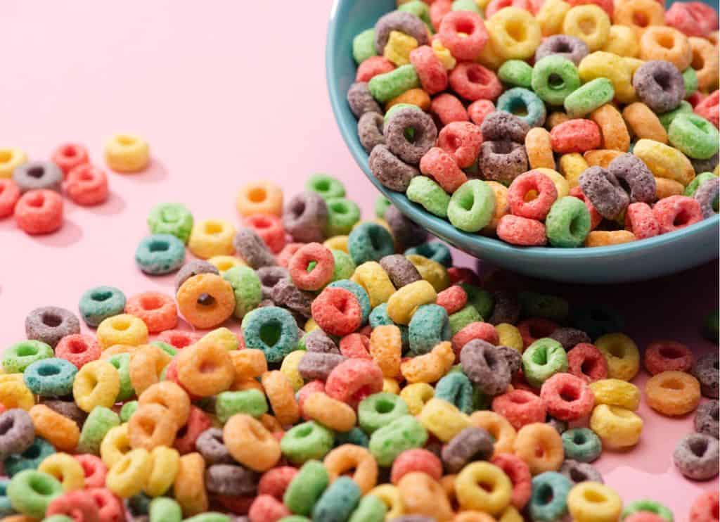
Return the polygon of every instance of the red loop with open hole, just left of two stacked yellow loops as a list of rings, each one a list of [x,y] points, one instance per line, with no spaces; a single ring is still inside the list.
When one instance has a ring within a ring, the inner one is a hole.
[[[590,415],[595,394],[585,379],[572,374],[554,374],[540,388],[540,398],[547,413],[559,420],[578,420]]]

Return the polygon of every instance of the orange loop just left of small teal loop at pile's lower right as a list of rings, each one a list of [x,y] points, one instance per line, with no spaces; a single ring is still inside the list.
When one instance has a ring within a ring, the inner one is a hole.
[[[516,456],[528,464],[534,475],[557,471],[564,459],[562,438],[555,428],[545,423],[526,424],[520,428],[513,447]]]

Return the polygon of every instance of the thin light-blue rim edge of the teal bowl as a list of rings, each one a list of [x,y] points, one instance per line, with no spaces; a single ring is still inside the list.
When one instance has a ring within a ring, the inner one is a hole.
[[[690,225],[689,227],[674,230],[669,233],[656,235],[652,238],[631,241],[629,243],[621,243],[619,245],[599,246],[599,247],[582,247],[582,248],[559,248],[549,246],[513,246],[496,238],[490,238],[480,234],[471,234],[455,228],[449,221],[432,215],[427,210],[419,207],[400,192],[395,192],[383,186],[377,177],[372,174],[368,166],[368,153],[362,148],[357,138],[356,129],[348,129],[346,125],[346,117],[350,114],[350,109],[346,102],[346,93],[341,93],[334,78],[337,76],[335,57],[337,53],[344,52],[341,46],[334,45],[338,37],[338,14],[341,4],[349,0],[333,0],[330,8],[330,19],[328,22],[328,34],[325,40],[325,82],[328,87],[328,95],[330,96],[330,105],[333,108],[333,116],[336,125],[340,130],[343,141],[350,149],[355,162],[361,168],[366,178],[384,195],[390,199],[392,204],[408,218],[417,222],[418,225],[427,228],[431,233],[439,238],[447,240],[454,246],[472,245],[474,251],[493,251],[498,254],[510,254],[513,256],[524,256],[528,261],[555,259],[588,259],[588,258],[606,258],[618,256],[619,254],[632,254],[639,251],[650,251],[657,247],[667,247],[672,243],[680,243],[687,240],[690,235],[701,235],[708,233],[711,228],[719,228],[720,215],[702,220],[701,222]],[[355,122],[354,116],[352,116]],[[470,248],[459,246],[461,250],[467,251]]]

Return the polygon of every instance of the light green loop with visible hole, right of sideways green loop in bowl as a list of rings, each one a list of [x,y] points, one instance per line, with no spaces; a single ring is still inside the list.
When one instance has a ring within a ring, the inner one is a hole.
[[[495,192],[480,179],[465,181],[450,197],[447,212],[448,219],[455,228],[465,232],[477,232],[492,220],[495,212]]]

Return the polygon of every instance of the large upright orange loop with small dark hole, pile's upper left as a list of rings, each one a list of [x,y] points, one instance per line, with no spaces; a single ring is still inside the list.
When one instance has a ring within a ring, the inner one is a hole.
[[[215,274],[187,279],[178,289],[176,300],[182,316],[195,328],[215,328],[235,310],[233,287]]]

